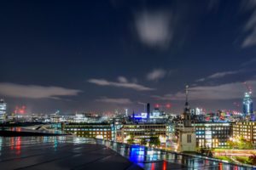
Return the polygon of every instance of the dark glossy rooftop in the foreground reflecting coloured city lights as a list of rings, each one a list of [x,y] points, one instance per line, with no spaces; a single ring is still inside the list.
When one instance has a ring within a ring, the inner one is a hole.
[[[72,136],[0,137],[0,169],[252,169],[196,156]]]

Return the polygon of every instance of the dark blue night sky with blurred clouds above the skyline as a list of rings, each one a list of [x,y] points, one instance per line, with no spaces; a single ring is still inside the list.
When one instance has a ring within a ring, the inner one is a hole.
[[[256,88],[256,1],[3,1],[0,97],[28,112],[236,110]],[[253,96],[255,96],[253,94]],[[255,100],[255,99],[254,99]]]

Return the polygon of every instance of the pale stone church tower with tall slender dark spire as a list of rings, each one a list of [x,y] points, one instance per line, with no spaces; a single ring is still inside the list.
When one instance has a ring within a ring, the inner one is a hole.
[[[189,108],[189,86],[186,86],[186,102],[183,111],[183,124],[177,128],[177,150],[195,151],[195,127],[191,125],[191,113]]]

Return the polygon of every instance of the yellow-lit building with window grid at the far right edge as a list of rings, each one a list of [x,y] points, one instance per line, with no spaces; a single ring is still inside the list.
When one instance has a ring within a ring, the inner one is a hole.
[[[256,122],[236,122],[232,126],[232,137],[243,137],[256,144]]]

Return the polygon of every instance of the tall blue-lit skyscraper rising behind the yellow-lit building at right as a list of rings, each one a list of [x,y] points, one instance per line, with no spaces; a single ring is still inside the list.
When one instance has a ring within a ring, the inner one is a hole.
[[[253,118],[253,99],[251,99],[251,92],[245,93],[242,102],[243,116],[252,116]]]

